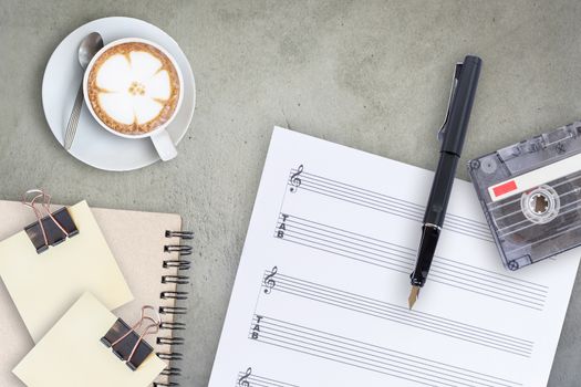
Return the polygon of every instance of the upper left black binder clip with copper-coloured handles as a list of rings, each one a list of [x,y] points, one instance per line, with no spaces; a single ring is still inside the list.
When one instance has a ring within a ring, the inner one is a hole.
[[[28,200],[30,199],[30,200]],[[37,205],[41,202],[42,208],[46,212],[44,218],[41,218],[41,210]],[[50,245],[62,243],[66,238],[74,237],[79,233],[76,224],[74,223],[66,207],[52,212],[50,210],[51,196],[40,189],[31,189],[24,192],[22,203],[30,207],[37,216],[37,221],[24,228],[32,244],[37,249],[37,253],[41,253],[49,249]]]

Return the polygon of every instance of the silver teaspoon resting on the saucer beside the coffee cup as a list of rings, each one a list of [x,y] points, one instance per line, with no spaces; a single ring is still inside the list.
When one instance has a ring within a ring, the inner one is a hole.
[[[86,69],[89,62],[95,56],[95,54],[103,48],[103,38],[98,32],[91,32],[86,35],[81,45],[79,46],[79,64],[83,70]],[[83,81],[79,92],[76,92],[76,98],[74,100],[73,109],[69,117],[69,124],[66,124],[66,132],[64,133],[64,148],[71,149],[73,145],[74,136],[76,135],[76,126],[79,125],[79,117],[81,116],[81,107],[83,107]]]

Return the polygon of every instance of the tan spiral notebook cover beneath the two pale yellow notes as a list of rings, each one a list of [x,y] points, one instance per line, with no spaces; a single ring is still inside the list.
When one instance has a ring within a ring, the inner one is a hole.
[[[58,209],[60,206],[53,206]],[[177,376],[179,369],[175,360],[179,360],[179,344],[183,338],[176,336],[178,330],[185,326],[175,321],[177,314],[184,314],[186,308],[176,297],[186,297],[176,282],[188,281],[184,269],[189,266],[187,255],[190,247],[187,241],[166,231],[180,231],[181,217],[174,213],[137,212],[111,209],[91,209],[125,281],[134,295],[134,301],[114,310],[113,313],[133,322],[138,318],[139,310],[145,304],[162,308],[163,328],[158,337],[147,342],[156,353],[169,364],[164,374]],[[0,200],[0,241],[22,230],[34,221],[34,215],[22,203]],[[76,238],[76,237],[74,237]],[[181,247],[179,247],[181,245]],[[179,251],[181,250],[181,252]],[[181,259],[180,259],[181,254]],[[165,282],[165,283],[163,283]],[[165,299],[162,299],[165,296]],[[180,335],[179,335],[180,336]],[[24,386],[12,369],[34,346],[30,335],[20,318],[18,311],[0,281],[0,386]],[[170,375],[162,375],[156,383],[159,387],[169,384]],[[173,381],[175,383],[175,381]]]

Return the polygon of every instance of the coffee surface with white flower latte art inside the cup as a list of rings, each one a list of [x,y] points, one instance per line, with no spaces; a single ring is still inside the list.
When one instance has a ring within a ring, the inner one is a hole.
[[[106,50],[89,74],[95,115],[110,128],[141,135],[167,122],[179,100],[179,77],[162,51],[128,42]]]

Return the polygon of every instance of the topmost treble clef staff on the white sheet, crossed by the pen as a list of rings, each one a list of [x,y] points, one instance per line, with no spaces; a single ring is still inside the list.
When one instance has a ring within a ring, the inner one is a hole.
[[[424,218],[425,207],[391,197],[388,195],[374,192],[369,189],[355,187],[342,181],[329,179],[303,170],[301,165],[298,169],[291,169],[288,185],[291,191],[297,190],[297,179],[301,190],[323,195],[329,198],[343,200],[353,205],[367,207],[377,211],[421,222]],[[478,222],[454,213],[446,215],[444,223],[446,230],[455,231],[468,237],[481,239],[494,243],[490,229],[485,222]]]

